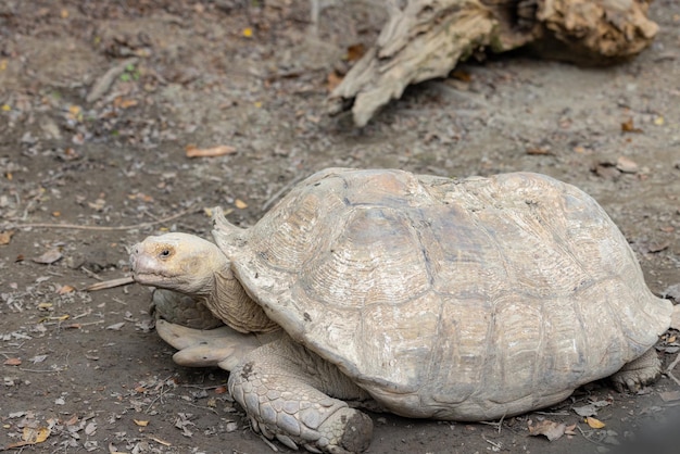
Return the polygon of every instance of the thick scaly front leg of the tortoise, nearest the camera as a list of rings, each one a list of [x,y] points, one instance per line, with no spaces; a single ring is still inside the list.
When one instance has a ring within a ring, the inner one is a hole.
[[[290,338],[248,354],[231,370],[228,387],[253,429],[288,447],[355,453],[370,444],[370,418],[327,394],[362,400],[367,393]]]

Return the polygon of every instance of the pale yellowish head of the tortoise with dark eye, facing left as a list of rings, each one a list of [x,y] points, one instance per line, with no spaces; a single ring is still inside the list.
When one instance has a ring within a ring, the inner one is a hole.
[[[133,247],[133,278],[143,286],[206,295],[215,289],[215,273],[229,266],[217,245],[188,234],[147,237]]]

